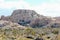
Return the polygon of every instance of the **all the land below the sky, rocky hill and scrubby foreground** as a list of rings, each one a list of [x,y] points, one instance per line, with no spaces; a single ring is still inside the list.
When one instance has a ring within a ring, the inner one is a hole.
[[[60,40],[60,20],[34,10],[14,10],[0,18],[0,40]]]

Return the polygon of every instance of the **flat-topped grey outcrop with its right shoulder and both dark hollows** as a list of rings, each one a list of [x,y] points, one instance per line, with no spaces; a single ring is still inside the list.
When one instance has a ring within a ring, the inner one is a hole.
[[[10,19],[12,22],[31,27],[42,27],[51,21],[47,17],[37,14],[34,10],[14,10]]]

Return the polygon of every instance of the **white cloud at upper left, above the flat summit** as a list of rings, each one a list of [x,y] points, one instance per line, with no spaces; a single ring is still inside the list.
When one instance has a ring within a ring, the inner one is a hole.
[[[0,1],[0,8],[28,8],[29,7],[29,4],[27,2],[24,2],[23,0],[20,0],[18,2],[16,1],[10,1],[10,2],[4,2],[3,1]]]

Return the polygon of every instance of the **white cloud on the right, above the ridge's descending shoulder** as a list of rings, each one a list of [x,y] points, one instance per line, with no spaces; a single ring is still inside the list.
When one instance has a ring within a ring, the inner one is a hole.
[[[37,13],[45,16],[60,16],[60,4],[58,3],[42,3],[41,5],[32,7]]]

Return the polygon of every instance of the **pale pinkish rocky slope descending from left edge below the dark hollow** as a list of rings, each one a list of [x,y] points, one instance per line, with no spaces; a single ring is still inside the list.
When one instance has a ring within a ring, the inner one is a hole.
[[[11,21],[0,20],[0,28],[20,28],[26,29],[26,27],[21,26],[17,23],[13,23]]]

